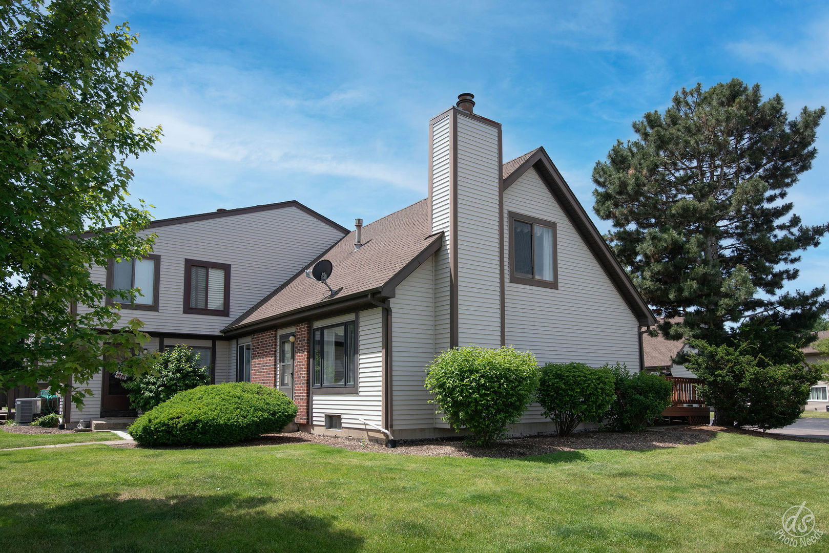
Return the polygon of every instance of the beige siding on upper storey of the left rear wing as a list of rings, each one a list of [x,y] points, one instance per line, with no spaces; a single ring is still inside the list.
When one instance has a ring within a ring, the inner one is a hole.
[[[123,308],[121,316],[140,319],[146,332],[216,335],[342,238],[339,230],[293,206],[161,226],[144,234],[150,232],[158,235],[153,253],[161,256],[158,312]],[[230,316],[182,313],[185,259],[230,264]],[[91,273],[96,282],[106,282],[104,267]]]

